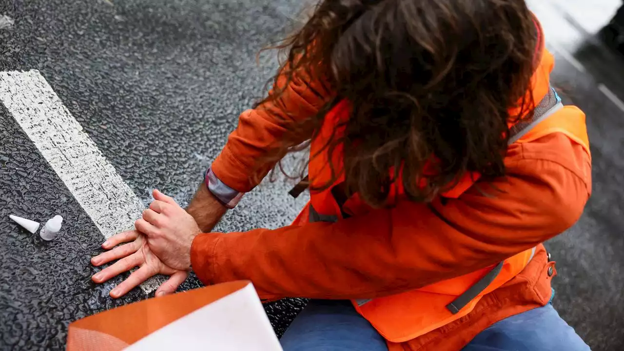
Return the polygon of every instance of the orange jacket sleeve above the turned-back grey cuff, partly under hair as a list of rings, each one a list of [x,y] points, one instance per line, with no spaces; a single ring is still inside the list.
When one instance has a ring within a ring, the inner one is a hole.
[[[286,77],[280,76],[273,88],[286,84]],[[286,122],[303,121],[314,116],[329,96],[320,81],[311,79],[305,72],[296,74],[279,99],[240,115],[238,127],[230,134],[223,151],[213,162],[212,171],[232,189],[250,191],[258,185],[251,179],[251,174],[259,172],[259,179],[262,179],[275,166],[275,163],[258,164],[258,160],[282,139]],[[303,137],[293,146],[307,139],[310,136]]]

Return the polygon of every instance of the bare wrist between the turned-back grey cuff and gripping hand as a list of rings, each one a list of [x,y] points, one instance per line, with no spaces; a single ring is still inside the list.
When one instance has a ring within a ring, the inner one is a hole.
[[[210,232],[218,224],[227,208],[208,190],[205,182],[199,186],[188,204],[187,212],[193,216],[202,232]]]

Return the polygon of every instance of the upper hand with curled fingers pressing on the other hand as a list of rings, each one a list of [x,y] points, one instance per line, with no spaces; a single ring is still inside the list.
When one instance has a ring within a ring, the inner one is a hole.
[[[191,266],[191,244],[200,234],[193,216],[171,197],[154,190],[154,201],[135,222],[137,229],[147,235],[150,249],[169,267],[188,270]]]

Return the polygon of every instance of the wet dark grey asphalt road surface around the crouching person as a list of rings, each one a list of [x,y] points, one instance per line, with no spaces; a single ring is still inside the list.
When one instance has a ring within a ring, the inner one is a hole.
[[[618,0],[530,1],[557,57],[555,86],[588,117],[593,197],[578,224],[548,242],[557,260],[555,307],[593,350],[624,349],[624,58],[593,36]],[[186,204],[203,172],[263,93],[275,67],[255,54],[283,36],[298,0],[0,0],[0,72],[39,70],[142,204],[158,188]],[[0,102],[0,349],[61,350],[70,322],[148,295],[112,300],[90,282],[100,227],[56,161]],[[39,149],[37,149],[39,147]],[[219,230],[278,227],[303,200],[266,183]],[[63,215],[43,242],[9,214]],[[189,279],[182,289],[200,286]],[[152,292],[153,294],[153,292]],[[305,304],[266,305],[278,334]]]

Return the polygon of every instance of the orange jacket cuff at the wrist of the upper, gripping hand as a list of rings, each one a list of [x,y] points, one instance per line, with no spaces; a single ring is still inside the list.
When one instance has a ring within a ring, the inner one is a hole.
[[[203,285],[210,285],[215,278],[215,253],[221,240],[220,233],[203,233],[191,244],[191,268]]]

